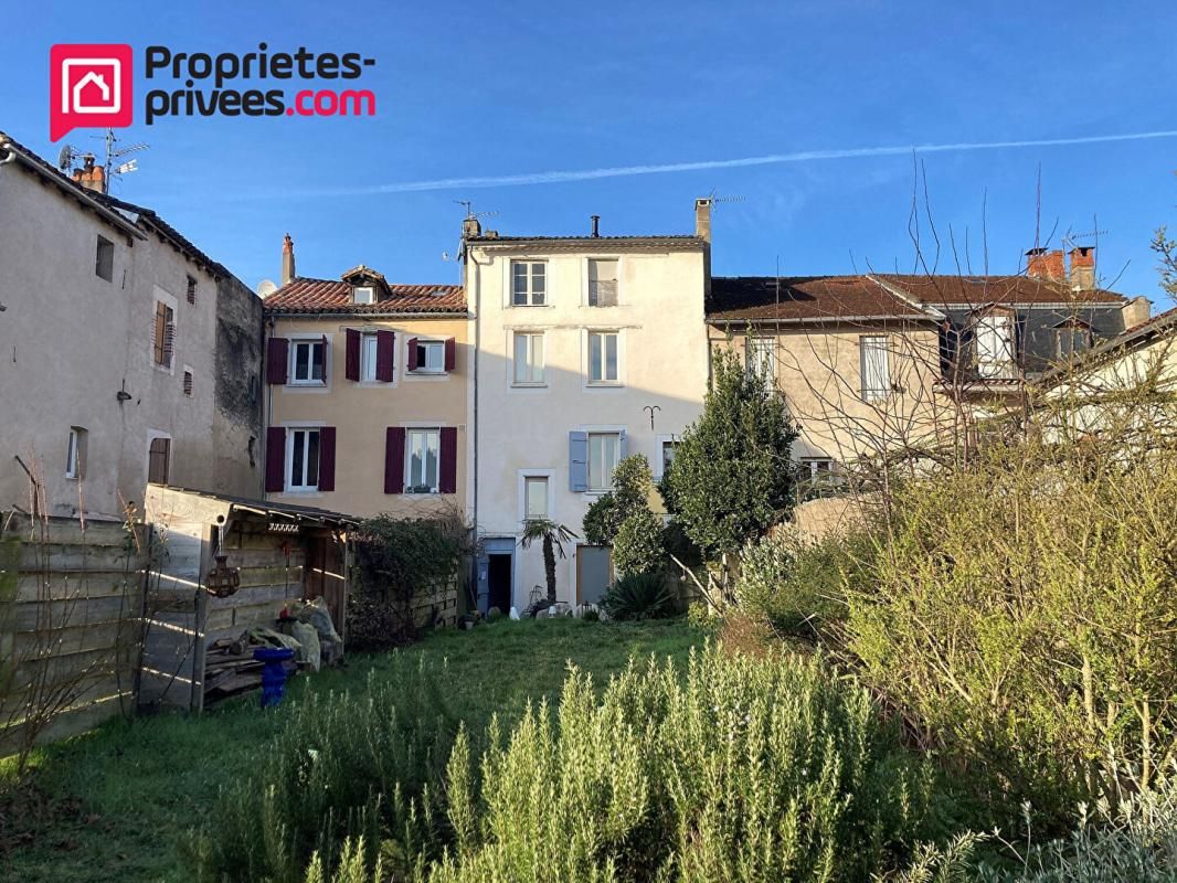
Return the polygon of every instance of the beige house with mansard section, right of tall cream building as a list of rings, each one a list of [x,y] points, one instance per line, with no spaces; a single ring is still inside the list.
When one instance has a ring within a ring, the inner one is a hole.
[[[1148,317],[1096,285],[1095,253],[1032,250],[1018,275],[712,279],[712,345],[770,373],[800,429],[793,456],[820,489],[845,464],[951,445],[1028,381]]]

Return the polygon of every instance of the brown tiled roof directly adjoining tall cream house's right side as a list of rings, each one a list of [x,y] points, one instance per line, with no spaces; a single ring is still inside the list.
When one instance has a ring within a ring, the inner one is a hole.
[[[779,287],[779,292],[778,292]],[[711,321],[818,321],[823,319],[938,317],[867,275],[714,277],[707,300]]]

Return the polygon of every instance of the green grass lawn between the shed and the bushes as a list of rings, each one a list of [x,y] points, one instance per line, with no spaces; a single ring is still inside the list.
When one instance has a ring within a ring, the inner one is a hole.
[[[447,631],[397,651],[444,659],[446,711],[480,729],[528,699],[554,698],[568,662],[604,683],[631,656],[685,657],[701,635],[684,622],[499,622]],[[218,789],[248,771],[251,749],[282,725],[307,691],[361,690],[392,671],[392,655],[353,656],[346,670],[300,678],[286,703],[262,711],[258,695],[200,717],[112,722],[42,751],[32,790],[0,806],[0,876],[33,881],[184,881],[185,837],[200,829]]]

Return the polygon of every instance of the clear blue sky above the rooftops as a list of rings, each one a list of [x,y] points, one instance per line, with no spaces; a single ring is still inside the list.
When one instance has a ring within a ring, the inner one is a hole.
[[[36,12],[9,16],[0,33],[0,130],[51,159],[54,42],[129,42],[137,64],[149,44],[215,54],[262,40],[377,59],[359,81],[377,95],[371,119],[148,127],[137,107],[120,133],[151,150],[117,195],[154,207],[251,286],[278,275],[287,231],[305,275],[364,263],[390,280],[457,281],[457,265],[441,259],[458,240],[454,200],[497,212],[485,224],[510,234],[583,233],[590,214],[603,233],[685,233],[693,199],[712,191],[742,198],[717,208],[718,273],[771,274],[778,263],[784,274],[910,270],[906,152],[526,186],[387,185],[1177,130],[1172,4],[51,0]],[[65,141],[98,146],[85,130]],[[1042,239],[1100,231],[1100,273],[1164,305],[1148,244],[1158,225],[1177,226],[1177,138],[917,161],[942,268],[955,271],[951,226],[962,254],[967,231],[979,272],[984,226],[991,270],[1017,270],[1035,240],[1040,168]],[[931,260],[926,226],[922,241]]]

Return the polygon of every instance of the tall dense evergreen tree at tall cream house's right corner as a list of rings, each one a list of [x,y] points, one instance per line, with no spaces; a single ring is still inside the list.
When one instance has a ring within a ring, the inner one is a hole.
[[[717,352],[703,414],[683,433],[661,491],[704,555],[739,549],[792,510],[797,430],[771,379]]]

